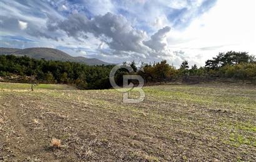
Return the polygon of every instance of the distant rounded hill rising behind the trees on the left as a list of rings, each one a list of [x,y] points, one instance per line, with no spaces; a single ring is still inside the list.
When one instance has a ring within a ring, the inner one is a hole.
[[[0,48],[0,55],[16,55],[24,56],[27,55],[31,58],[46,60],[58,60],[58,61],[72,61],[77,63],[85,63],[86,65],[109,65],[111,63],[106,63],[96,58],[85,58],[83,56],[71,56],[61,50],[54,48]]]

